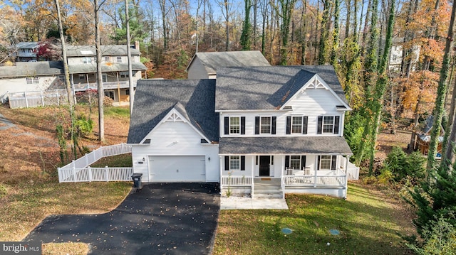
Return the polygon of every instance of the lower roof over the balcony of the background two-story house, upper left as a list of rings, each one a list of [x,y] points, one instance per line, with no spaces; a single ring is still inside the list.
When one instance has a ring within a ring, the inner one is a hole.
[[[142,63],[131,63],[132,70],[147,70]],[[70,73],[97,72],[96,63],[68,65]],[[128,63],[101,63],[101,72],[122,72],[128,71]]]

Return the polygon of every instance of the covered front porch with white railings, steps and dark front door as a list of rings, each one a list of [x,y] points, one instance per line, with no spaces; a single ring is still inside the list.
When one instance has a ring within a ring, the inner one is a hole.
[[[331,141],[341,139],[331,137]],[[343,142],[346,144],[345,139]],[[224,146],[220,145],[222,195],[283,198],[285,193],[300,192],[346,197],[348,180],[357,180],[359,175],[359,168],[349,161],[348,145],[338,151],[318,151],[318,146],[314,146],[314,153],[305,148],[288,148],[271,154],[223,153]]]

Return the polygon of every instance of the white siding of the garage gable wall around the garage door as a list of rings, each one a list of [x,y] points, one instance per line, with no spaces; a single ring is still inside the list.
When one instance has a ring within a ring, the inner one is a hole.
[[[149,156],[205,156],[206,181],[219,181],[218,145],[201,143],[202,137],[190,124],[166,121],[159,124],[145,139],[150,139],[149,145],[132,148],[133,170],[142,173],[145,182],[150,181]]]

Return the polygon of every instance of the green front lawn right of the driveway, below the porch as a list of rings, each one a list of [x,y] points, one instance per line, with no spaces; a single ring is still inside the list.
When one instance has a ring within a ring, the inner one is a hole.
[[[413,234],[413,226],[404,227],[385,197],[358,185],[350,185],[348,200],[287,195],[286,201],[289,210],[222,210],[214,254],[409,253],[401,236]]]

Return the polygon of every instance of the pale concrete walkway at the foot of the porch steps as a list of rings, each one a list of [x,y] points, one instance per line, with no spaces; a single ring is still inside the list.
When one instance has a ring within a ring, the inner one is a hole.
[[[288,210],[279,198],[220,197],[220,210]]]

